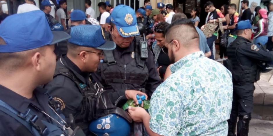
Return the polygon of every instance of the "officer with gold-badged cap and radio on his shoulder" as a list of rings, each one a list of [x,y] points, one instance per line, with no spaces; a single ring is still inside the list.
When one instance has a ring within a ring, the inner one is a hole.
[[[161,82],[152,52],[147,49],[146,44],[140,45],[143,38],[138,37],[139,29],[134,10],[126,5],[118,5],[110,16],[111,36],[117,47],[113,51],[105,52],[104,62],[93,75],[108,92],[142,89],[148,91],[150,98]],[[148,56],[141,58],[141,55]],[[126,99],[123,98],[118,106],[125,102]]]

